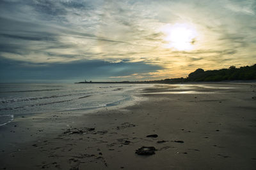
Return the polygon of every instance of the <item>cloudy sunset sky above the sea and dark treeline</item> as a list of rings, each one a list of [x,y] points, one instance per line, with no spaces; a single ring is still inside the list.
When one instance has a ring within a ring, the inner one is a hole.
[[[256,63],[255,0],[0,0],[0,82],[161,80]]]

